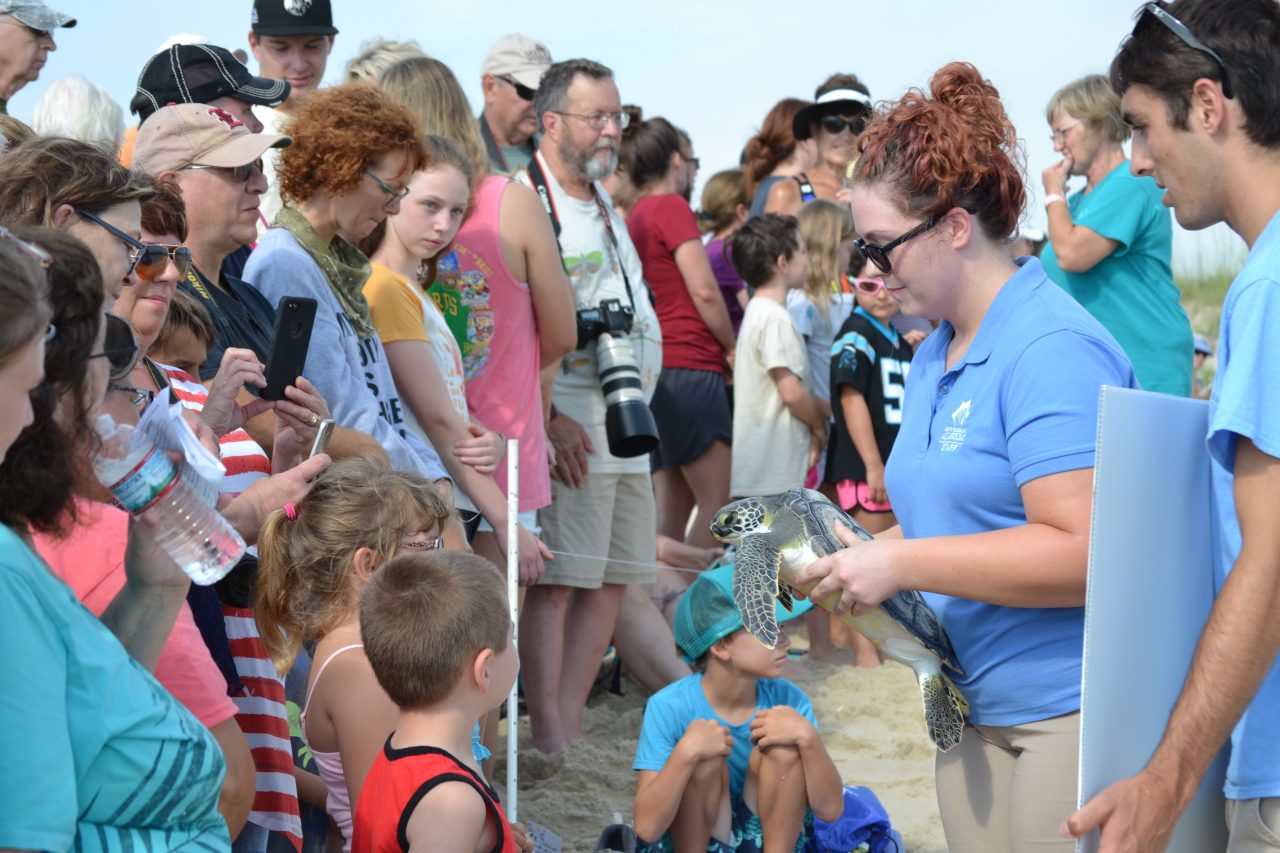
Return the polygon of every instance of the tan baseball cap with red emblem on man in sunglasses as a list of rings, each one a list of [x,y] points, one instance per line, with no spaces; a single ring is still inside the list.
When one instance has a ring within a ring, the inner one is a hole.
[[[138,128],[133,169],[160,174],[189,165],[234,168],[257,160],[268,149],[292,143],[279,133],[251,133],[243,122],[216,106],[170,104]]]

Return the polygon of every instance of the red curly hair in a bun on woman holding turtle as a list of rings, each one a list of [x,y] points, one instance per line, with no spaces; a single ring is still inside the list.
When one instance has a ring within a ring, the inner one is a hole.
[[[1027,201],[1018,134],[1000,92],[969,63],[943,65],[928,95],[911,90],[878,113],[858,149],[856,179],[884,184],[904,213],[964,207],[992,240],[1016,231]]]

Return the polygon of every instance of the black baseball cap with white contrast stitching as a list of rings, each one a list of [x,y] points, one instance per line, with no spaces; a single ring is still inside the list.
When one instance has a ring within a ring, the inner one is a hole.
[[[255,77],[225,47],[174,45],[142,67],[129,110],[145,122],[168,104],[207,104],[225,96],[246,104],[279,106],[291,90],[283,79]]]

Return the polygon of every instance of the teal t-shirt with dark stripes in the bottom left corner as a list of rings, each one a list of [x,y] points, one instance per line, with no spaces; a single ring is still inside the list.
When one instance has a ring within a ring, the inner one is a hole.
[[[0,848],[230,848],[218,742],[4,525],[0,625]]]

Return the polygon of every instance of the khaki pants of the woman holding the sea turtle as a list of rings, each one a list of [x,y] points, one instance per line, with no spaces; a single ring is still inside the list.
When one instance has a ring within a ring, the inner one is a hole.
[[[968,725],[934,766],[951,853],[1074,853],[1057,827],[1075,811],[1080,715],[1020,726]]]

